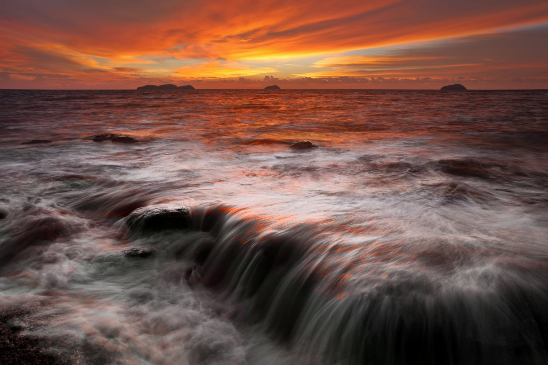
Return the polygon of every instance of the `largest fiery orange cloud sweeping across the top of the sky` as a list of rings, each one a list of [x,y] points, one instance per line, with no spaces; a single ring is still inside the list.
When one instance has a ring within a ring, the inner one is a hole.
[[[215,10],[212,10],[215,9]],[[465,36],[548,20],[539,0],[9,1],[4,31],[64,40],[99,57],[173,54],[181,59],[269,59]],[[1,15],[0,15],[1,16]]]

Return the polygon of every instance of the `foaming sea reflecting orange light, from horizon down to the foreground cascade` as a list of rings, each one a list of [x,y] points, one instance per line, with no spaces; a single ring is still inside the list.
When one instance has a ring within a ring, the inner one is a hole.
[[[547,153],[546,90],[0,90],[0,363],[546,364]]]

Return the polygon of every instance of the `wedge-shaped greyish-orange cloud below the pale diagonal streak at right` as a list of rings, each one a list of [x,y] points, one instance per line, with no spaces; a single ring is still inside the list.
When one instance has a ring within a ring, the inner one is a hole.
[[[300,77],[483,78],[506,81],[548,69],[548,49],[538,44],[548,38],[548,27],[482,34],[466,38],[370,50],[372,55],[332,56],[312,64]]]

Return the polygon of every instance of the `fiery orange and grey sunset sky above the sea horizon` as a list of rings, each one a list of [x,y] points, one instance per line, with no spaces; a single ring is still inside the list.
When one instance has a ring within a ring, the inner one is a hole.
[[[546,0],[2,0],[0,89],[548,89]]]

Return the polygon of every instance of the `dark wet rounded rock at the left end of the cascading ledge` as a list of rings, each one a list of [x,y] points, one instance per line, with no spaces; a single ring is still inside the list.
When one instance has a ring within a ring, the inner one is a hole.
[[[169,205],[137,208],[125,218],[125,223],[130,229],[141,231],[185,229],[191,225],[190,210]]]

